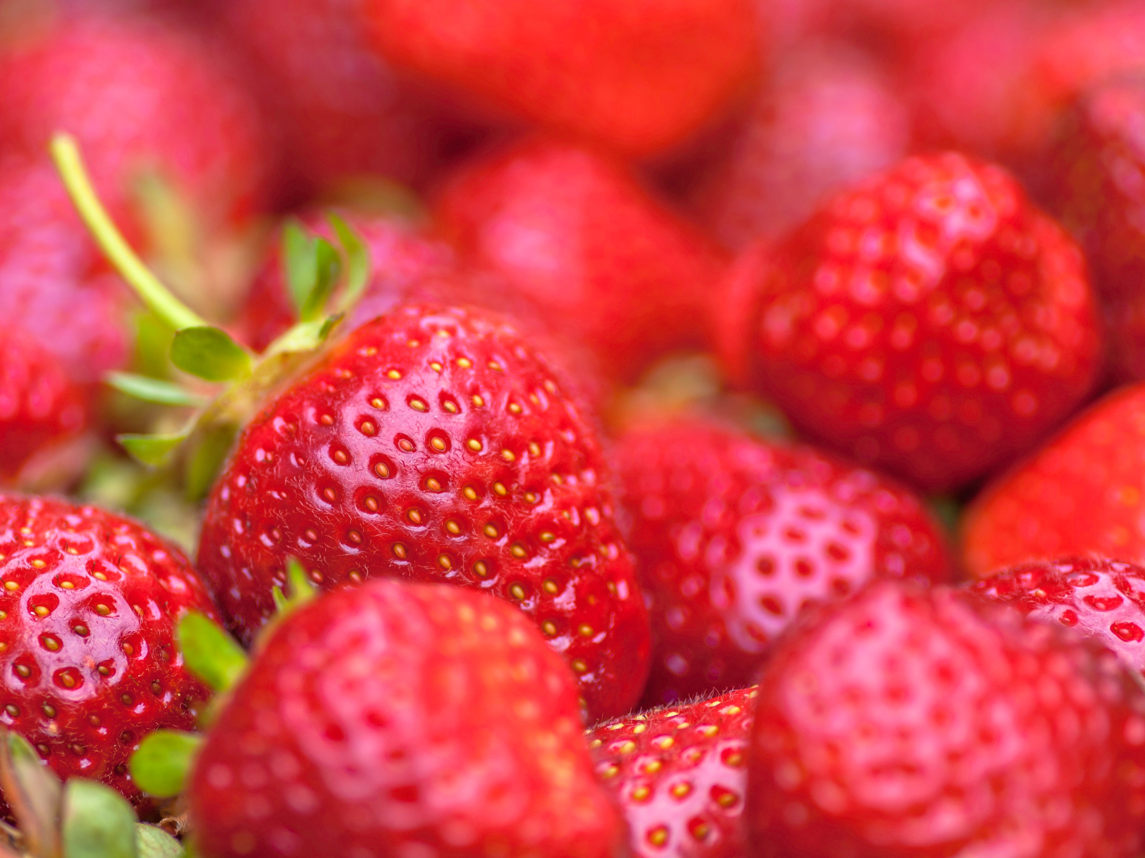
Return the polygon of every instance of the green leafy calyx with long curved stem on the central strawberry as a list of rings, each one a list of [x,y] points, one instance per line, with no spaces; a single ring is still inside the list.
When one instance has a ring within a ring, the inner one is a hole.
[[[287,224],[284,257],[298,321],[256,355],[187,307],[140,260],[100,201],[74,138],[57,134],[50,152],[72,204],[108,261],[175,332],[171,363],[191,376],[223,386],[207,398],[161,379],[131,373],[111,373],[105,379],[137,399],[192,410],[177,431],[124,434],[117,439],[133,458],[152,467],[167,466],[182,451],[184,487],[191,498],[199,498],[210,488],[239,428],[269,394],[315,359],[362,297],[370,280],[365,243],[332,213],[329,220],[340,249],[308,235],[297,222]]]

